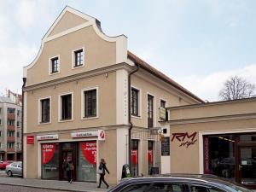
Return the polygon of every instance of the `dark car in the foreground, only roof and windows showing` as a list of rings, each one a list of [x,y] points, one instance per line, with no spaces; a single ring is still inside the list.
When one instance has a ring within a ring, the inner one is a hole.
[[[172,174],[125,178],[108,192],[252,192],[213,175]]]

